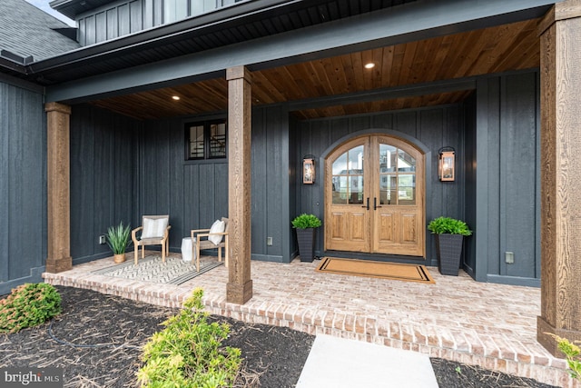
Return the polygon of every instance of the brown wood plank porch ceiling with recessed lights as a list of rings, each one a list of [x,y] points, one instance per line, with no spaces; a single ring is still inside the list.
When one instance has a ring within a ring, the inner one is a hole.
[[[256,71],[252,73],[252,102],[257,106],[359,94],[353,104],[293,112],[299,119],[458,103],[470,94],[469,90],[393,98],[386,93],[386,99],[360,101],[369,91],[538,67],[538,22],[539,19],[533,19]],[[366,69],[364,65],[368,63],[375,67]],[[180,96],[180,100],[173,100],[173,95]],[[116,96],[92,104],[148,120],[225,111],[227,95],[224,77]]]

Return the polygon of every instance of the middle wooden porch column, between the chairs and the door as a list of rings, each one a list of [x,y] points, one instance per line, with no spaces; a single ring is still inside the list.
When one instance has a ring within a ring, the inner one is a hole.
[[[251,73],[226,70],[228,80],[228,217],[230,267],[226,301],[244,304],[251,281]]]

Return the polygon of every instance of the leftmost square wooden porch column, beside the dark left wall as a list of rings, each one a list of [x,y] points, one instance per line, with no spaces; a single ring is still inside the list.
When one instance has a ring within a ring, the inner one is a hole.
[[[71,197],[69,164],[69,119],[71,107],[48,103],[47,130],[47,215],[48,257],[46,272],[59,273],[73,268],[71,257]]]

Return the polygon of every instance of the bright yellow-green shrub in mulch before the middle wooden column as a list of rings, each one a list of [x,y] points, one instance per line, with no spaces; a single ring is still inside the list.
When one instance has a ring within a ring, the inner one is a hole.
[[[177,315],[162,323],[143,348],[145,364],[137,373],[142,387],[230,387],[241,366],[241,350],[222,348],[227,323],[208,323],[202,311],[203,291],[197,288]]]

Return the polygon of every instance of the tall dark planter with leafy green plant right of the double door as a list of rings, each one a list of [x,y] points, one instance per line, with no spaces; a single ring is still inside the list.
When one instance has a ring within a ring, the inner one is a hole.
[[[439,273],[458,276],[464,236],[472,234],[472,231],[464,221],[450,217],[430,221],[428,230],[436,234]]]

